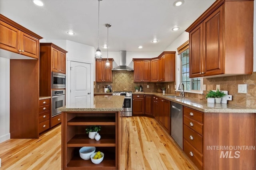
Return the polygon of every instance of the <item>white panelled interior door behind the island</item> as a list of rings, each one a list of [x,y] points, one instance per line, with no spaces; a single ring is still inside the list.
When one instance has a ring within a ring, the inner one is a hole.
[[[91,64],[71,61],[70,104],[75,107],[90,106]]]

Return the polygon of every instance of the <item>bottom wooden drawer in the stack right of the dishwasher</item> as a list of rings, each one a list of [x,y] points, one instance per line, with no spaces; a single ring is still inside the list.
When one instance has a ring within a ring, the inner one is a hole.
[[[202,154],[200,154],[192,145],[186,140],[183,140],[183,150],[185,154],[194,162],[198,169],[202,170]]]

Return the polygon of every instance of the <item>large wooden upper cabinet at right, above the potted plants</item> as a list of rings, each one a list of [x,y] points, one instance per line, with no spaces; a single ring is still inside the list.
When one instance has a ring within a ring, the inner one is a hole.
[[[186,31],[190,78],[252,74],[252,0],[217,0]]]

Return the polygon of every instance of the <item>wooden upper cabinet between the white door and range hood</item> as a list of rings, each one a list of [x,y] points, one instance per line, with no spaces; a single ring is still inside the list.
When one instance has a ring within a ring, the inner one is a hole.
[[[114,59],[108,59],[110,68],[106,69],[106,60],[96,61],[96,82],[112,82],[112,63]]]

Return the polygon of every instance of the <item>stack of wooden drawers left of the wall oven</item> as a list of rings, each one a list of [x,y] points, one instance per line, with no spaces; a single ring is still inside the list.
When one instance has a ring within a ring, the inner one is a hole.
[[[39,133],[50,128],[50,99],[39,100]]]

